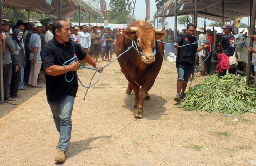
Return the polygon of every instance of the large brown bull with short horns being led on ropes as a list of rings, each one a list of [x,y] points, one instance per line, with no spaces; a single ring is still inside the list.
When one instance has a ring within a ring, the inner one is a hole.
[[[166,33],[162,32],[163,30],[164,28],[154,29],[146,21],[135,21],[122,31],[123,35],[117,44],[117,56],[132,45],[132,39],[136,42],[138,50],[146,56],[139,56],[138,52],[131,48],[118,58],[121,71],[129,82],[126,93],[129,94],[132,90],[135,93],[134,108],[136,110],[133,115],[137,118],[143,118],[143,102],[146,97],[150,99],[148,91],[153,86],[162,66],[164,44],[155,40],[165,37]],[[154,48],[157,51],[155,56]]]

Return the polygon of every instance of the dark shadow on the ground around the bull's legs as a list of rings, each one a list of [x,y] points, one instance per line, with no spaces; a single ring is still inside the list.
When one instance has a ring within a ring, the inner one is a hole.
[[[150,94],[150,100],[144,100],[143,103],[143,116],[149,120],[158,120],[161,118],[162,114],[166,112],[166,108],[164,107],[167,100],[163,99],[161,96],[157,96],[154,94]],[[123,105],[123,108],[130,110],[134,113],[135,108],[133,108],[135,101],[135,94],[132,92],[127,95],[127,98],[124,99],[126,103]]]

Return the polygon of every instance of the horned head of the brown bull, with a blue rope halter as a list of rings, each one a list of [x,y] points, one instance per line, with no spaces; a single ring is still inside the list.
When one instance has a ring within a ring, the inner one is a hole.
[[[146,56],[141,56],[141,60],[147,64],[154,62],[155,40],[161,40],[165,37],[166,33],[163,32],[165,27],[154,29],[153,26],[130,27],[129,24],[127,26],[130,31],[123,30],[123,35],[136,42],[138,50]]]

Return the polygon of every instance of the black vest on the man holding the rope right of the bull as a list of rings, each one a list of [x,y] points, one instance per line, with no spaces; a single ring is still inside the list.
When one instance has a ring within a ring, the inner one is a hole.
[[[194,36],[190,37],[187,34],[179,35],[179,36],[181,36],[183,39],[182,44],[180,44],[179,46],[187,45],[187,44],[191,44],[191,45],[178,48],[178,55],[177,55],[176,62],[194,63],[195,57],[196,57],[196,50],[198,46],[197,44],[192,44],[192,43],[197,42],[197,39]]]

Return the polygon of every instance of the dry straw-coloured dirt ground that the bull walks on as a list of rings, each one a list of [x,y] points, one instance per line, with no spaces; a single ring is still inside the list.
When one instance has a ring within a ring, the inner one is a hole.
[[[82,69],[78,75],[88,85],[93,72]],[[176,78],[175,64],[164,61],[149,91],[151,100],[144,102],[143,119],[133,117],[135,95],[125,93],[128,81],[117,61],[104,69],[85,100],[86,89],[80,85],[71,143],[62,165],[251,166],[250,160],[256,162],[256,114],[184,111],[174,101]],[[196,78],[192,86],[204,78]],[[59,134],[42,86],[19,91],[23,99],[0,105],[0,166],[59,165],[54,161]]]

